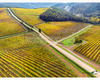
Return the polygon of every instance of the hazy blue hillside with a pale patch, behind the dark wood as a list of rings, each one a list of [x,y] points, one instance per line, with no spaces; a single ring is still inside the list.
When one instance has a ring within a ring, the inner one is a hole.
[[[100,17],[100,3],[59,3],[54,6],[84,17]]]

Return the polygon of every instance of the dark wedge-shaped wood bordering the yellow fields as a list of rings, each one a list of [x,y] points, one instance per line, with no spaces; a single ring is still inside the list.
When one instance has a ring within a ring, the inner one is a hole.
[[[40,19],[46,22],[48,21],[77,21],[77,22],[86,22],[86,23],[97,23],[97,22],[88,20],[84,17],[77,17],[70,12],[66,12],[63,9],[59,9],[56,7],[47,9],[47,11],[42,13],[39,17]]]

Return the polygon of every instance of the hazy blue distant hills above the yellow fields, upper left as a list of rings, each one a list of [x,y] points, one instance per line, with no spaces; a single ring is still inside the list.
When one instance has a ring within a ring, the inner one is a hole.
[[[14,7],[14,8],[43,8],[51,7],[56,3],[0,3],[0,7]]]

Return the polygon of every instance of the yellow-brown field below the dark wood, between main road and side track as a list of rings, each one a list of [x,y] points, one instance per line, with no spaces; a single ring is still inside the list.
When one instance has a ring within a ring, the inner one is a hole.
[[[86,27],[88,24],[79,23],[73,21],[64,21],[64,22],[49,22],[37,25],[37,28],[40,28],[44,33],[46,33],[53,40],[57,41],[64,37],[67,37],[80,29]]]

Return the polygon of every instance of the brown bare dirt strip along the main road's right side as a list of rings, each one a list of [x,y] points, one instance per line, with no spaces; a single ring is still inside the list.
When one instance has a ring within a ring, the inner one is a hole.
[[[87,42],[87,41],[86,41],[86,42]],[[84,42],[83,44],[85,44],[86,42]],[[91,64],[92,66],[96,67],[97,69],[100,69],[100,64],[97,64],[97,63],[94,62],[94,61],[90,61],[90,59],[88,59],[88,58],[86,58],[85,56],[83,56],[83,55],[79,54],[78,52],[75,52],[75,51],[74,51],[74,47],[77,46],[76,44],[74,44],[74,45],[72,45],[72,46],[70,46],[70,47],[64,46],[63,44],[59,44],[59,45],[62,46],[64,49],[70,51],[71,53],[78,55],[78,57],[79,57],[80,59],[83,59],[85,62]]]

